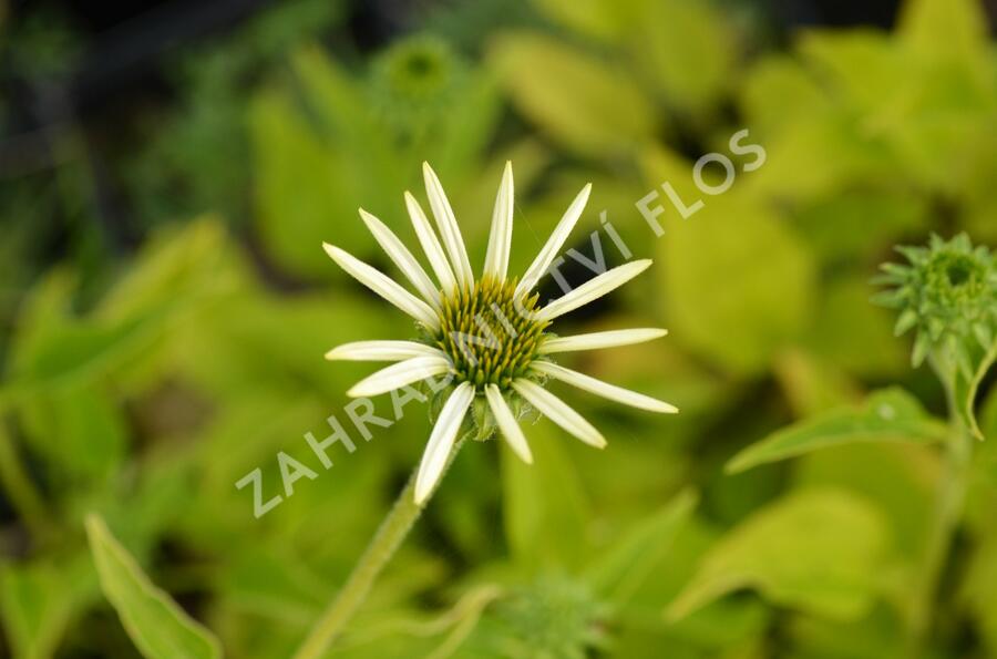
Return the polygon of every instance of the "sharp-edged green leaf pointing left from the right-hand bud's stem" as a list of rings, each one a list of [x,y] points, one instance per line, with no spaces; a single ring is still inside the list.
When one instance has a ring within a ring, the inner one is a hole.
[[[774,432],[738,453],[727,471],[738,473],[829,446],[855,442],[931,444],[948,436],[948,425],[934,419],[900,388],[872,393],[857,408],[819,414]]]

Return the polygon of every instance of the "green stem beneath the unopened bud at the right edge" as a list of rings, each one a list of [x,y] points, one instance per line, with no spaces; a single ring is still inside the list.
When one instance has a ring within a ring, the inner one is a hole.
[[[941,371],[939,375],[942,375]],[[906,648],[903,655],[906,659],[916,659],[924,653],[928,641],[939,580],[953,537],[963,516],[966,490],[969,483],[969,465],[973,459],[973,434],[958,412],[956,406],[958,402],[950,379],[943,379],[943,381],[946,382],[953,434],[946,444],[945,471],[938,484],[927,543],[918,570],[907,627]]]

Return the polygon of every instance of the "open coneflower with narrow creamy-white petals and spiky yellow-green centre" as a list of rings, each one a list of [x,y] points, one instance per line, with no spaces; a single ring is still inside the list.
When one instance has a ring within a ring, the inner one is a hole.
[[[343,270],[414,318],[421,327],[420,337],[414,341],[359,341],[329,351],[326,358],[330,360],[397,362],[360,381],[349,395],[378,395],[436,377],[450,377],[455,384],[422,456],[415,477],[417,503],[423,503],[440,480],[475,399],[486,403],[485,409],[494,421],[491,425],[497,426],[510,447],[527,463],[533,456],[513,412],[521,406],[521,401],[586,444],[606,445],[598,430],[541,385],[548,378],[641,410],[678,411],[674,405],[596,380],[551,360],[551,356],[558,352],[639,343],[666,333],[659,329],[628,329],[555,337],[547,331],[559,316],[613,291],[651,264],[644,259],[613,268],[545,307],[537,305],[538,296],[533,289],[582,216],[590,184],[575,197],[523,278],[510,279],[514,204],[512,165],[507,163],[492,214],[484,270],[481,278],[475,279],[443,187],[429,164],[423,164],[423,175],[439,237],[409,193],[405,193],[405,205],[435,280],[391,229],[360,210],[364,224],[418,295],[342,249],[325,244],[326,251]]]

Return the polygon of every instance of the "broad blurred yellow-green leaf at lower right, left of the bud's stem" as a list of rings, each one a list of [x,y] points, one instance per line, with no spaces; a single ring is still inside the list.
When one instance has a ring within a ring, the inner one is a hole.
[[[668,609],[671,619],[741,588],[779,606],[854,619],[877,595],[883,519],[837,490],[804,490],[756,513],[721,539]]]

